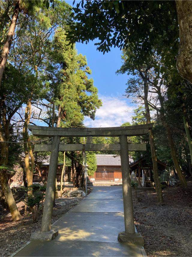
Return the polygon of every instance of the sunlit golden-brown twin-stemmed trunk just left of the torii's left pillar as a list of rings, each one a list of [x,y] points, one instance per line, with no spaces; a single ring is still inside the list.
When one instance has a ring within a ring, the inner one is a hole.
[[[31,101],[29,100],[25,109],[25,122],[23,125],[23,141],[24,141],[24,152],[25,152],[25,170],[26,170],[26,178],[27,178],[27,186],[31,186],[33,184],[33,172],[35,166],[35,158],[32,151],[32,146],[29,140],[28,135],[28,125],[31,118]],[[31,168],[29,165],[29,155],[31,157]],[[32,194],[32,190],[28,191],[29,194]]]

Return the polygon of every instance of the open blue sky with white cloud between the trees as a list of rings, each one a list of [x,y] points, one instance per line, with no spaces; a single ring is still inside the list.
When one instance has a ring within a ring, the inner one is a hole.
[[[73,1],[66,1],[70,5]],[[86,55],[87,63],[92,70],[91,78],[98,88],[99,98],[103,101],[103,106],[97,110],[95,121],[85,117],[85,125],[88,127],[108,127],[119,126],[124,122],[131,121],[134,105],[131,100],[123,97],[128,80],[127,74],[116,75],[115,72],[121,65],[121,51],[119,48],[111,48],[108,53],[97,51],[97,46],[89,42],[76,43],[78,53]]]

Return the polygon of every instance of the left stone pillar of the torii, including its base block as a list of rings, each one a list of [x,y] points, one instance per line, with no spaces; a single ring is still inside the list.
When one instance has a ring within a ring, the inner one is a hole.
[[[53,240],[58,235],[58,231],[51,230],[51,218],[55,196],[59,143],[60,136],[53,136],[41,230],[33,232],[31,234],[31,240],[49,241]]]

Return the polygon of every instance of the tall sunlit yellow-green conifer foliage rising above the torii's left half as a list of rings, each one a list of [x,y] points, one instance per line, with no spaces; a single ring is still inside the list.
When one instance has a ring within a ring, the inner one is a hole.
[[[86,57],[67,45],[64,32],[55,33],[49,54],[48,101],[55,101],[56,107],[61,108],[61,126],[82,127],[84,116],[95,119],[95,112],[102,104],[93,79],[88,79],[91,70]]]

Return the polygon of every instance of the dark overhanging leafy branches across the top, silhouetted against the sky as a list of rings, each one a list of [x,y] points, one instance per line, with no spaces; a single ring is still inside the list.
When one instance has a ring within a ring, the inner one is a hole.
[[[112,46],[129,46],[136,62],[145,59],[153,47],[162,54],[178,51],[179,30],[172,1],[89,0],[78,3],[73,11],[67,32],[72,43],[98,39],[95,45],[104,53]]]

